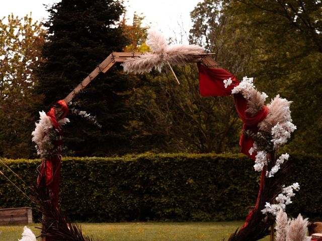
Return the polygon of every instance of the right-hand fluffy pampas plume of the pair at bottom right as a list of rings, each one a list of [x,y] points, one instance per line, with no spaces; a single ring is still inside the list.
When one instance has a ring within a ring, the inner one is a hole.
[[[296,219],[290,220],[287,230],[286,241],[304,241],[306,240],[306,227],[308,224],[307,218],[303,219],[301,214],[298,214]]]

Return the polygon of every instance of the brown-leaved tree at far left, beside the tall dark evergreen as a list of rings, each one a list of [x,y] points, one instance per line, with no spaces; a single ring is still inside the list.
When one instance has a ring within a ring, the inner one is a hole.
[[[42,99],[32,91],[38,82],[33,70],[42,61],[44,33],[28,15],[0,20],[0,155],[30,157],[31,109]]]

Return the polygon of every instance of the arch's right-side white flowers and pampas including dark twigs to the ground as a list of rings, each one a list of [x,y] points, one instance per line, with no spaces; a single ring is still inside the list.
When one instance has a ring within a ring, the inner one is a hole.
[[[292,102],[276,95],[265,105],[268,96],[256,89],[253,80],[244,77],[243,81],[234,85],[231,93],[241,94],[246,99],[246,112],[250,116],[256,116],[263,108],[268,109],[267,116],[257,125],[258,132],[251,130],[244,132],[245,136],[254,141],[249,154],[254,156],[254,169],[262,172],[262,180],[254,211],[247,217],[244,226],[230,236],[230,241],[246,240],[246,237],[247,240],[259,240],[267,235],[274,216],[285,211],[286,205],[292,203],[291,197],[295,195],[294,191],[300,188],[297,182],[287,187],[282,185],[288,170],[289,154],[285,153],[279,157],[276,155],[279,147],[287,143],[291,133],[296,130],[291,118]],[[225,88],[232,83],[229,78],[223,80]]]

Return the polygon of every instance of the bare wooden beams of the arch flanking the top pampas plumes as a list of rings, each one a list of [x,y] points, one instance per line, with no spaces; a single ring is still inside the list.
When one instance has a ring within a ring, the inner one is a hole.
[[[106,73],[109,71],[115,63],[123,63],[129,58],[139,58],[146,52],[113,52],[111,53],[98,67],[96,67],[92,73],[90,73],[81,83],[79,83],[65,98],[66,103],[69,103],[77,93],[81,92],[86,88],[101,72]],[[202,62],[209,68],[218,69],[219,64],[214,61],[210,55],[204,53],[192,58],[189,63],[200,63]]]

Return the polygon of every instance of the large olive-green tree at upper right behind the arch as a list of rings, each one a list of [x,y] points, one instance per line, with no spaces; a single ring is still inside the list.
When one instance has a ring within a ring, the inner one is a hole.
[[[203,41],[237,77],[255,77],[270,97],[294,101],[298,130],[288,149],[321,150],[320,1],[205,0],[192,12],[192,41]]]

